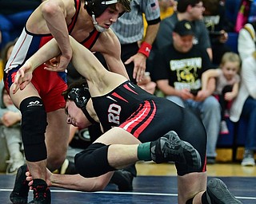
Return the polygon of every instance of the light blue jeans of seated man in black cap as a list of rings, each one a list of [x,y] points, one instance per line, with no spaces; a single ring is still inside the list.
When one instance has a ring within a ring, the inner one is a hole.
[[[207,133],[206,156],[216,157],[216,144],[221,124],[221,107],[218,100],[214,96],[209,96],[202,102],[182,100],[178,96],[166,96],[166,99],[182,107],[190,108],[201,117]]]

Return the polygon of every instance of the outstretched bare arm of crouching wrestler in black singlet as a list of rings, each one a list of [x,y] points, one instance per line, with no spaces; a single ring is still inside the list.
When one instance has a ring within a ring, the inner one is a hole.
[[[90,50],[70,37],[70,45],[73,49],[72,63],[83,77],[86,77],[88,86],[90,88],[91,96],[102,95],[113,90],[118,84],[126,81],[125,77],[121,75],[110,73],[98,61]],[[13,92],[17,92],[18,88],[25,88],[26,84],[30,83],[34,69],[41,65],[44,61],[58,56],[60,49],[58,48],[55,39],[50,40],[46,45],[43,45],[30,59],[28,59],[22,68],[18,69],[15,76]],[[47,65],[45,68],[49,71],[58,70],[58,61],[54,65]]]

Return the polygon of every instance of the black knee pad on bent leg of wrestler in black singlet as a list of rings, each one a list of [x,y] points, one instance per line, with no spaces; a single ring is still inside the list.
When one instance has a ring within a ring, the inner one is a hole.
[[[115,171],[114,167],[110,167],[107,160],[107,151],[109,145],[103,143],[93,143],[75,155],[75,169],[80,175],[86,178],[104,175],[109,171]]]

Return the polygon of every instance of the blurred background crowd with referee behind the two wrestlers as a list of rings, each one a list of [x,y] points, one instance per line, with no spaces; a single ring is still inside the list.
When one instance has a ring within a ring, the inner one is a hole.
[[[1,80],[15,39],[41,2],[0,1]],[[229,134],[226,119],[234,123],[246,121],[242,166],[254,166],[256,1],[158,0],[150,6],[155,8],[154,14],[145,8],[132,7],[130,14],[123,14],[111,27],[121,43],[122,62],[130,80],[148,92],[190,108],[201,118],[207,132],[209,164],[216,162],[218,136]],[[182,22],[182,26],[175,27],[177,22]],[[238,37],[232,43],[237,49],[229,44],[230,35],[234,34]],[[107,69],[100,54],[95,55]],[[140,72],[145,73],[143,80],[138,78]],[[203,80],[206,73],[207,80]],[[78,78],[81,76],[70,64],[68,82]],[[4,155],[0,159],[0,170],[15,174],[24,163],[21,114],[10,99],[8,102],[2,85],[0,93],[0,151]],[[101,134],[96,125],[88,130],[70,127],[70,147],[83,149]],[[72,163],[74,152],[77,151],[71,148],[66,167]],[[65,173],[66,167],[58,173]],[[134,167],[128,171],[136,176]]]

